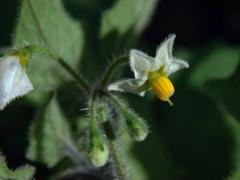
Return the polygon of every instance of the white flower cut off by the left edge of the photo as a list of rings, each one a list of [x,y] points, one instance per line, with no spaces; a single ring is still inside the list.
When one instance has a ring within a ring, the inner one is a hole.
[[[22,54],[0,58],[0,110],[16,97],[33,89],[25,65],[26,60]]]

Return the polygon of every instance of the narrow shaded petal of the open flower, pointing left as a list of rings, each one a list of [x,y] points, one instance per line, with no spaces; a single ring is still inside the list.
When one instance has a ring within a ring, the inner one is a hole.
[[[142,88],[142,85],[145,82],[146,81],[141,79],[126,79],[110,84],[107,89],[109,91],[120,91],[141,94],[142,92],[145,91],[145,89]]]

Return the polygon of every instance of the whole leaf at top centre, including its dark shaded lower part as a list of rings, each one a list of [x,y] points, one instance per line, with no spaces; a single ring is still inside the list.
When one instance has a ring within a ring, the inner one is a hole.
[[[129,47],[147,23],[158,0],[117,0],[102,15],[100,37],[104,53],[119,54]]]

